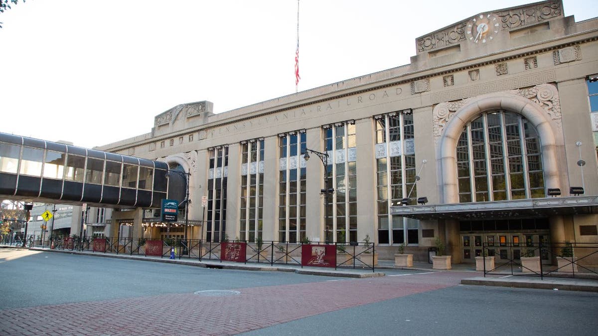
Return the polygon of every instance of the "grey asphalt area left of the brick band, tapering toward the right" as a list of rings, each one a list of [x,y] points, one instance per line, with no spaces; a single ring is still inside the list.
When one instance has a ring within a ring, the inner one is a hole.
[[[331,279],[334,278],[0,249],[4,292],[0,309]]]

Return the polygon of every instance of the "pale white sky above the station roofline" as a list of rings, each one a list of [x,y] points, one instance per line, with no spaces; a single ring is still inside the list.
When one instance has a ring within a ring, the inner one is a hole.
[[[533,1],[301,0],[299,91],[410,63],[415,39]],[[564,0],[577,22],[598,1]],[[27,0],[0,13],[0,132],[91,148],[295,92],[296,0]]]

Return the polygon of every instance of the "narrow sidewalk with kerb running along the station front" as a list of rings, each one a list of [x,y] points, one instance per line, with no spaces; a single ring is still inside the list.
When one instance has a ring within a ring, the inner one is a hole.
[[[0,246],[2,248],[16,248],[15,246]],[[367,268],[324,268],[324,267],[301,267],[301,265],[287,265],[287,264],[266,264],[257,262],[230,262],[219,261],[216,259],[169,259],[160,258],[158,256],[145,255],[128,255],[117,253],[103,253],[103,252],[88,252],[88,251],[69,251],[56,250],[48,248],[30,248],[32,251],[44,252],[58,252],[71,253],[78,255],[103,256],[108,258],[122,258],[133,259],[141,261],[166,262],[179,265],[190,265],[207,268],[221,268],[227,270],[248,270],[248,271],[283,271],[295,272],[297,274],[310,274],[316,276],[334,276],[334,277],[353,277],[353,278],[368,278],[386,276],[383,270],[414,270],[414,271],[429,271],[429,272],[460,272],[471,273],[471,277],[461,280],[462,285],[482,285],[482,286],[503,286],[514,288],[536,288],[536,289],[553,289],[566,291],[586,291],[598,292],[598,279],[572,279],[559,277],[544,277],[539,276],[520,276],[510,274],[488,274],[484,277],[483,272],[475,271],[475,264],[453,264],[451,270],[439,271],[432,270],[432,264],[428,262],[413,262],[413,267],[395,267],[394,261],[379,260],[379,265],[373,270]],[[382,270],[382,271],[381,271]]]

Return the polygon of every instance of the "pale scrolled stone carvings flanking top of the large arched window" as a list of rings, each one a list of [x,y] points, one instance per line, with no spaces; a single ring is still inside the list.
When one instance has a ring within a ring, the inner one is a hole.
[[[554,85],[539,84],[533,87],[504,91],[504,93],[514,93],[532,100],[532,102],[541,106],[546,113],[550,115],[551,120],[555,121],[557,127],[560,127],[560,120],[562,116],[559,91]],[[436,142],[438,141],[438,138],[440,138],[444,126],[447,124],[450,118],[453,117],[454,112],[474,99],[477,99],[477,97],[470,97],[467,99],[458,100],[456,102],[443,102],[434,107],[434,110],[432,111],[432,134],[434,135]],[[407,145],[405,145],[405,147],[407,147]],[[407,153],[407,149],[405,149],[405,152],[406,154],[409,154]]]

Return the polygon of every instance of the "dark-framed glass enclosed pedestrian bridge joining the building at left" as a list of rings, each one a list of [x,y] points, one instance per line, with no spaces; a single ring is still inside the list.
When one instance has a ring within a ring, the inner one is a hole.
[[[168,170],[160,161],[0,133],[2,198],[159,208],[162,198],[184,198],[184,178],[167,192]]]

